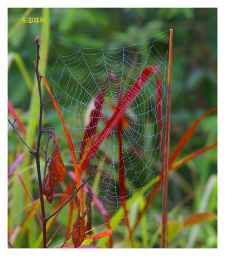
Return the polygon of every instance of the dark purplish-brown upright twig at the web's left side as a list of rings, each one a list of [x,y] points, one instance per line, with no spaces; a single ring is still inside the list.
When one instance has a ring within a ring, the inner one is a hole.
[[[41,203],[41,214],[42,214],[42,234],[43,234],[43,248],[47,248],[47,241],[46,241],[46,222],[45,222],[45,204],[44,204],[44,196],[42,190],[42,181],[41,181],[41,169],[40,169],[40,142],[41,142],[41,129],[42,129],[42,113],[43,113],[43,100],[42,100],[42,92],[41,92],[41,76],[38,71],[39,65],[39,48],[40,45],[38,44],[39,37],[35,39],[36,47],[37,47],[37,59],[35,65],[35,73],[38,80],[38,92],[39,92],[39,100],[40,100],[40,110],[39,110],[39,125],[38,125],[38,138],[37,138],[37,146],[35,151],[35,160],[37,165],[37,173],[38,173],[38,184],[39,184],[39,194],[40,194],[40,203]]]

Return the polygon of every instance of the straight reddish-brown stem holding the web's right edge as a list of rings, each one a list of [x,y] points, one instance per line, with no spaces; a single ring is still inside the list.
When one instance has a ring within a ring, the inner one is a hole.
[[[169,63],[167,83],[167,106],[166,106],[166,133],[165,133],[165,154],[163,164],[163,185],[162,185],[162,235],[161,248],[165,248],[166,224],[167,224],[167,194],[168,194],[168,172],[169,172],[169,134],[171,130],[171,84],[172,84],[172,49],[173,30],[169,33]]]

